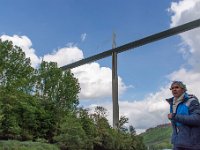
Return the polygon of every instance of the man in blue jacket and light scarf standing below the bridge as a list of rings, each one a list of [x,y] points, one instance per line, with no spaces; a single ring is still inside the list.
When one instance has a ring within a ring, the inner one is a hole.
[[[198,99],[186,93],[185,84],[171,84],[172,98],[168,119],[171,120],[173,150],[200,150],[200,105]]]

